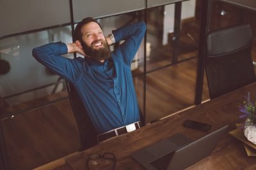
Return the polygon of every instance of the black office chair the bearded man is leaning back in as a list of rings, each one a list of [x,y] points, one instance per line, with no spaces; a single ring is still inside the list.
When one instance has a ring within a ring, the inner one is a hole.
[[[90,148],[94,145],[98,144],[97,141],[97,132],[94,129],[92,122],[88,116],[88,111],[84,108],[83,103],[81,102],[76,89],[70,83],[67,83],[68,94],[70,98],[70,103],[72,106],[72,110],[74,111],[74,116],[76,118],[77,127],[79,129],[80,138],[81,138],[81,150],[85,150],[86,148]],[[144,117],[140,110],[140,118],[141,124],[144,125]]]

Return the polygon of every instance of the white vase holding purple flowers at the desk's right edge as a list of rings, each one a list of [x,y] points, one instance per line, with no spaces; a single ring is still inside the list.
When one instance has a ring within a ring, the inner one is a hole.
[[[256,125],[253,125],[248,118],[246,118],[244,124],[244,136],[248,141],[256,145]]]

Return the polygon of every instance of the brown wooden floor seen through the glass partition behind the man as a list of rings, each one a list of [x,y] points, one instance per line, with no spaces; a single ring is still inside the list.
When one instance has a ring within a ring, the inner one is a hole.
[[[147,71],[170,64],[172,48],[158,46],[152,48]],[[195,98],[196,67],[198,51],[195,46],[181,49],[179,62],[170,67],[147,74],[146,121],[151,122],[170,113],[193,106]],[[255,50],[253,50],[255,53]],[[143,67],[137,70],[141,73]],[[143,77],[134,78],[134,86],[140,107],[143,107]],[[39,101],[54,101],[68,97],[67,92],[29,101],[11,108],[8,112],[38,106]],[[209,99],[207,82],[204,80],[203,101]],[[70,153],[80,146],[79,132],[72,113],[69,99],[28,110],[15,117],[2,120],[6,151],[12,170],[33,169]]]

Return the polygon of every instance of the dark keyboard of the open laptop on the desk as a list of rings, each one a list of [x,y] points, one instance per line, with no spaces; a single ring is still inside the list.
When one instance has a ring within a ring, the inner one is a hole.
[[[170,163],[170,160],[173,157],[173,153],[174,152],[169,153],[157,160],[154,160],[153,162],[150,162],[150,164],[154,166],[157,170],[166,170]]]

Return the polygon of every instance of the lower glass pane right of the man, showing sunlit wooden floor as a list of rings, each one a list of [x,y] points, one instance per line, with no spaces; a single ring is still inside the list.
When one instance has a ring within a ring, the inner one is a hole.
[[[194,104],[197,59],[147,74],[146,122]]]

